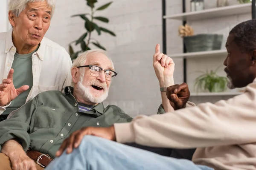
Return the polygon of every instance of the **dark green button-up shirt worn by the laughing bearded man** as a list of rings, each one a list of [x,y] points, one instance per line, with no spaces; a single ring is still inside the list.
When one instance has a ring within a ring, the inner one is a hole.
[[[0,144],[17,139],[25,151],[31,148],[54,158],[64,139],[81,127],[108,127],[132,120],[119,107],[104,108],[102,103],[79,112],[72,92],[71,87],[66,87],[64,94],[45,91],[14,111],[10,119],[0,122]]]

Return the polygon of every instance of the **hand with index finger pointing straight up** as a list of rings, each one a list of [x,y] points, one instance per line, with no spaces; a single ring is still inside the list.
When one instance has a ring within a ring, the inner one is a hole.
[[[170,57],[168,57],[163,53],[160,53],[159,44],[156,45],[155,54],[153,56],[153,66],[154,66],[157,79],[160,82],[160,86],[168,87],[169,85],[165,86],[165,84],[166,84],[166,81],[173,82],[172,79],[173,79],[175,63]]]

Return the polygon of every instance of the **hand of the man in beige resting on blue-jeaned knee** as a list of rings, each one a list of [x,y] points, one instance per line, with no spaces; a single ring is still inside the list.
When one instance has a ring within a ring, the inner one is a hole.
[[[99,136],[109,140],[116,140],[114,126],[111,127],[83,127],[81,130],[73,132],[56,152],[56,156],[61,156],[64,150],[67,148],[67,153],[71,153],[73,148],[79,147],[83,137],[85,135]]]

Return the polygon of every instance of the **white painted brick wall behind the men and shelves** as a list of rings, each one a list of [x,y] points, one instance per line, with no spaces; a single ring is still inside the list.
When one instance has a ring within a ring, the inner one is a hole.
[[[98,0],[97,6],[110,0]],[[189,2],[189,0],[187,0]],[[206,0],[209,2],[209,0]],[[212,0],[210,0],[212,2]],[[230,1],[230,0],[229,0]],[[110,19],[109,24],[99,23],[116,33],[116,37],[102,33],[100,37],[93,34],[109,52],[118,72],[115,82],[105,105],[118,105],[131,116],[138,114],[151,115],[157,112],[161,103],[159,85],[152,67],[152,56],[157,43],[162,45],[162,0],[113,0],[113,4],[104,11],[97,12],[99,16]],[[209,6],[211,4],[208,4]],[[167,14],[182,12],[181,0],[166,0]],[[189,8],[189,3],[187,3]],[[3,6],[0,6],[0,11]],[[85,32],[84,21],[73,14],[87,13],[85,0],[57,0],[56,11],[46,37],[68,49],[68,44]],[[250,14],[223,17],[219,19],[191,22],[195,33],[224,34],[237,23],[250,19]],[[0,17],[2,23],[3,17]],[[177,29],[182,24],[179,20],[167,20],[167,52],[168,54],[183,51],[182,39],[178,37]],[[2,28],[2,27],[1,27]],[[77,47],[79,48],[79,47]],[[222,45],[224,48],[224,43]],[[193,71],[215,68],[223,63],[223,58],[188,60],[188,84],[193,90],[192,81],[197,74]],[[175,61],[175,82],[183,82],[182,59]],[[200,68],[198,67],[200,63]],[[222,68],[221,68],[222,69]],[[223,73],[223,72],[222,72]],[[228,97],[192,97],[200,102],[215,102]]]

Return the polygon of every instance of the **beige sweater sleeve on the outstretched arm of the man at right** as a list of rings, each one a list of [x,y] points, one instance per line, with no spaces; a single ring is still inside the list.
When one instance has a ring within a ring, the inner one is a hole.
[[[256,142],[256,83],[244,94],[172,113],[137,116],[115,124],[117,142],[152,147],[194,148]],[[126,134],[122,132],[125,131]]]

